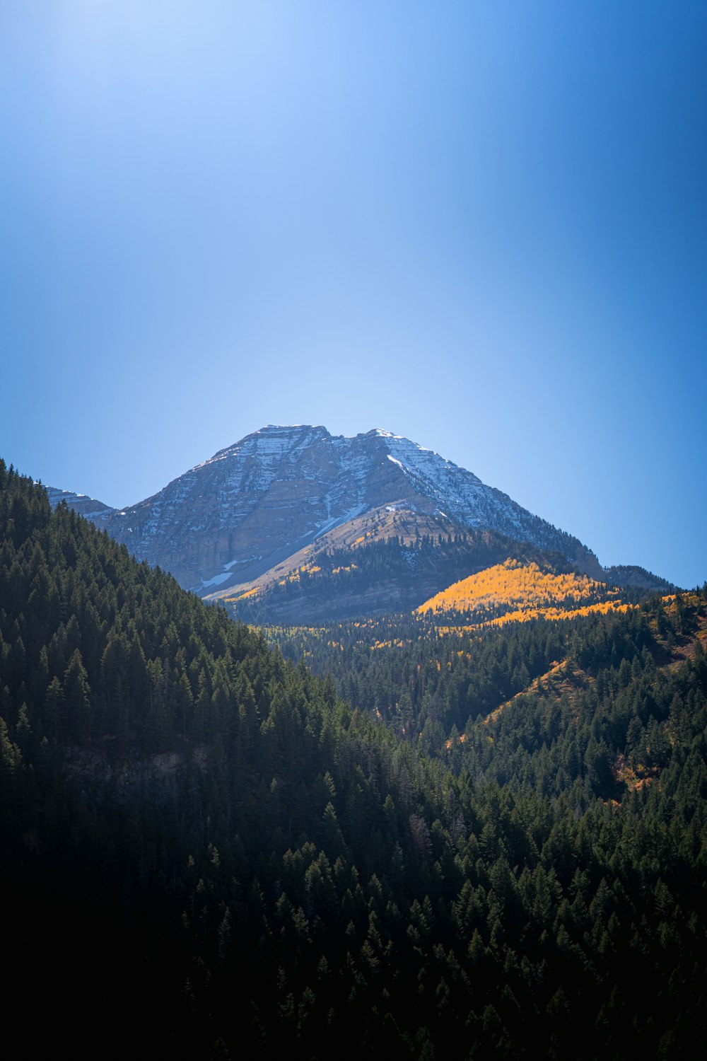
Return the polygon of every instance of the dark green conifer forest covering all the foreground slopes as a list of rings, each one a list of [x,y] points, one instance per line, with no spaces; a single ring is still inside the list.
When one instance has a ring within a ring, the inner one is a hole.
[[[704,1049],[706,607],[391,621],[352,709],[0,464],[20,1053]]]

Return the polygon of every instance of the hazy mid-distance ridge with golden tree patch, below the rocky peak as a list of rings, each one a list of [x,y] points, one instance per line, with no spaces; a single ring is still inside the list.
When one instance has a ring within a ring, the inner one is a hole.
[[[402,520],[400,512],[389,519],[386,529],[396,525],[402,529],[395,523]],[[346,546],[315,547],[315,542],[298,554],[298,563],[283,563],[275,576],[269,572],[245,589],[214,597],[234,618],[261,625],[329,624],[414,608],[469,612],[467,621],[479,623],[502,616],[512,606],[523,609],[514,619],[537,618],[538,610],[531,616],[527,608],[529,595],[537,609],[567,607],[570,601],[576,607],[631,603],[675,589],[640,568],[612,569],[597,580],[579,573],[559,553],[543,552],[495,530],[420,534],[410,521],[417,537],[408,523],[407,536],[389,534],[379,540],[381,519],[359,522],[360,537]]]

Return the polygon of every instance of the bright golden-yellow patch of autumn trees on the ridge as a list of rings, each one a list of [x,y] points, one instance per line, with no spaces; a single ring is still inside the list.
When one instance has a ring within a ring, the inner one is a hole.
[[[471,622],[565,619],[593,611],[625,610],[619,591],[588,575],[558,574],[537,563],[508,559],[437,593],[418,614],[463,612]]]

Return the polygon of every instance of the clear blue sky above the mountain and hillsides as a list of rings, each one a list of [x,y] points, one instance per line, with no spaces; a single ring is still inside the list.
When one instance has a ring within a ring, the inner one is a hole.
[[[6,0],[0,455],[387,428],[707,578],[707,4]]]

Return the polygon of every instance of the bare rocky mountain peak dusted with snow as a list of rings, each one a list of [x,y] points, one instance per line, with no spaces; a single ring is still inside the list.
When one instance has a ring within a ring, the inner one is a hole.
[[[376,521],[378,538],[400,535],[392,518],[399,514],[422,526],[419,534],[494,530],[560,553],[595,577],[602,571],[577,538],[472,472],[379,429],[347,438],[322,427],[271,425],[128,508],[50,491],[53,503],[61,498],[139,559],[205,596],[289,571],[290,557],[325,546],[342,527],[361,529],[374,511],[389,517]]]

